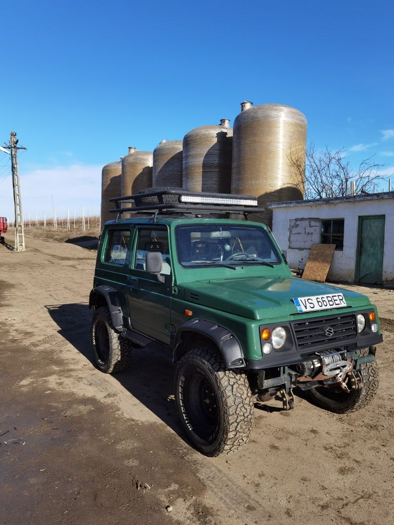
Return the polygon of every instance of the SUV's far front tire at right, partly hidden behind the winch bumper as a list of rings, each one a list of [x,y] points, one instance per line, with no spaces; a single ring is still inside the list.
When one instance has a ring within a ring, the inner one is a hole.
[[[368,349],[361,350],[361,355],[368,355]],[[308,390],[308,396],[316,405],[335,412],[336,414],[347,414],[355,412],[368,405],[378,390],[379,369],[376,361],[360,365],[360,373],[364,385],[357,390],[350,390],[350,393],[341,392],[336,395],[330,393],[329,388],[319,387]]]

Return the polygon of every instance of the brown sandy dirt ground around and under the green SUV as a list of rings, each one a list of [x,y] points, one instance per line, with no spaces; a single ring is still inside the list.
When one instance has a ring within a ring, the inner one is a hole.
[[[26,244],[0,246],[1,525],[393,522],[393,291],[357,287],[385,336],[367,408],[256,408],[251,442],[206,458],[181,430],[171,363],[138,350],[118,375],[92,365],[95,252]]]

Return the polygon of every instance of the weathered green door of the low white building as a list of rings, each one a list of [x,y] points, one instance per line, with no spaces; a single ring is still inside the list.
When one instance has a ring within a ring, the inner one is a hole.
[[[368,285],[381,285],[385,215],[358,218],[357,280]]]

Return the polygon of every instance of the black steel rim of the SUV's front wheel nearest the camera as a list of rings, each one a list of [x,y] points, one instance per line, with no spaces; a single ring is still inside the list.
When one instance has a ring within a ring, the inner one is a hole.
[[[185,374],[182,394],[186,424],[204,442],[214,443],[220,428],[219,399],[198,367]]]

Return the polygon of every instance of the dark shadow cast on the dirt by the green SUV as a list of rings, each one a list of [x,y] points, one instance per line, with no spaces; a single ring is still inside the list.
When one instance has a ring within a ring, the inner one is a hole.
[[[50,317],[64,337],[94,367],[90,348],[91,310],[87,303],[51,304],[46,306]],[[130,364],[113,377],[140,403],[168,425],[188,445],[174,402],[174,365],[146,349],[133,350]]]

